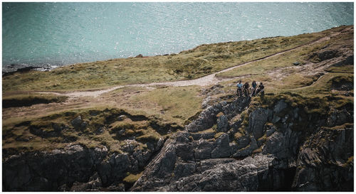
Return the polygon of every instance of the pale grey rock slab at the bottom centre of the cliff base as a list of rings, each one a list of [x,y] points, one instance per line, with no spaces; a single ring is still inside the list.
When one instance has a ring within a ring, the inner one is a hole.
[[[261,188],[261,182],[268,181],[269,166],[273,157],[255,156],[243,161],[217,162],[219,165],[202,173],[194,173],[191,176],[172,181],[167,185],[162,182],[135,183],[133,191],[159,190],[159,191],[251,191]],[[145,189],[143,189],[145,188]]]

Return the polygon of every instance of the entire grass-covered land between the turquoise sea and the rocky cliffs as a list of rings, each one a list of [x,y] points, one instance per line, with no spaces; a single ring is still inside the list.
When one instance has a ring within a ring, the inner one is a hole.
[[[344,32],[350,27],[351,30]],[[220,82],[219,87],[123,87],[99,97],[76,98],[35,93],[193,79],[335,32],[340,34],[222,72],[216,77],[233,80]],[[325,107],[353,106],[353,57],[352,60],[345,57],[350,53],[353,56],[353,38],[353,26],[340,26],[291,37],[199,45],[179,54],[6,75],[3,77],[3,156],[62,148],[73,143],[107,146],[109,151],[120,152],[125,139],[136,139],[140,149],[145,149],[147,141],[157,142],[183,129],[184,124],[201,112],[202,102],[211,104],[235,99],[238,80],[264,83],[266,96],[253,97],[251,103],[256,105],[283,97],[306,107],[315,104],[308,109],[310,112],[323,112]],[[293,65],[295,62],[299,64]],[[83,126],[72,124],[78,116],[82,124],[85,123]],[[120,116],[122,119],[117,119]]]

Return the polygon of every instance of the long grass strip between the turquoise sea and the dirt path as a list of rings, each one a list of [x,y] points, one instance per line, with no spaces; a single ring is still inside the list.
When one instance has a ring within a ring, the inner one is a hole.
[[[3,77],[2,87],[4,92],[80,90],[110,85],[194,79],[310,43],[344,28],[290,37],[199,45],[179,54],[80,63],[56,68],[50,72],[14,73]]]

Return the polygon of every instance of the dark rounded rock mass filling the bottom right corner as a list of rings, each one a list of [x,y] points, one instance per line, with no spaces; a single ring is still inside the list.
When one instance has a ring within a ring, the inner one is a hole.
[[[353,141],[352,129],[321,130],[311,136],[298,156],[293,188],[297,191],[353,190],[353,158],[350,161]]]

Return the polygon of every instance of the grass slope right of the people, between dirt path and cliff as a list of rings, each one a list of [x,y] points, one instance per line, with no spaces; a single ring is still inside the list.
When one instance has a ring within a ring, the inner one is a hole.
[[[353,31],[350,31],[330,38],[328,41],[298,48],[293,50],[293,52],[283,53],[266,60],[250,63],[228,72],[219,73],[216,76],[244,76],[244,78],[236,78],[236,80],[228,82],[230,84],[236,83],[237,80],[263,82],[266,93],[275,95],[293,92],[308,97],[323,97],[333,93],[332,84],[337,85],[337,82],[353,82],[353,65],[332,65],[325,70],[327,71],[325,75],[313,75],[313,71],[303,70],[303,65],[313,65],[310,62],[310,60],[313,60],[310,58],[313,53],[321,52],[320,50],[323,49],[340,50],[340,48],[350,48],[350,50],[353,50],[352,43]],[[293,65],[297,61],[300,63],[299,67]],[[337,92],[335,94],[337,95]]]

